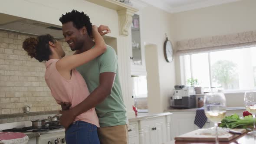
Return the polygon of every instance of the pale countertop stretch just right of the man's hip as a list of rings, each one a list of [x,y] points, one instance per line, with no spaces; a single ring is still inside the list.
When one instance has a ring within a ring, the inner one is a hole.
[[[145,120],[148,118],[155,118],[155,117],[160,117],[160,116],[165,116],[165,115],[171,115],[172,113],[170,112],[164,112],[164,113],[138,113],[138,115],[135,118],[128,118],[129,122],[132,121],[140,121],[140,120]]]

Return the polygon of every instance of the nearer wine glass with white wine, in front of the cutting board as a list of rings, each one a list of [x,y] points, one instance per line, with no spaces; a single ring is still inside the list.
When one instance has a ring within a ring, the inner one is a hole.
[[[218,123],[226,115],[226,98],[223,93],[212,92],[204,95],[204,113],[206,117],[214,123],[215,126],[215,144],[218,140]]]

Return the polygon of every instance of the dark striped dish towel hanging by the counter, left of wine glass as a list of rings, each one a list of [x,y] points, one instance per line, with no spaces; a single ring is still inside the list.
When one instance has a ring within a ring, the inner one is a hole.
[[[204,107],[198,108],[196,111],[194,124],[196,124],[199,128],[203,128],[203,125],[206,123],[206,121],[207,117],[204,114]]]

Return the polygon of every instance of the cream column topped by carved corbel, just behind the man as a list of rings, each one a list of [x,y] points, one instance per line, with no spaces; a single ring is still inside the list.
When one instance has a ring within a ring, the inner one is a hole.
[[[118,66],[119,76],[121,81],[121,88],[125,106],[127,108],[128,117],[135,117],[135,112],[132,110],[134,101],[132,99],[131,88],[131,22],[132,16],[135,11],[132,10],[119,10],[118,11],[118,24],[119,24],[119,37],[117,40],[117,53],[118,53]]]

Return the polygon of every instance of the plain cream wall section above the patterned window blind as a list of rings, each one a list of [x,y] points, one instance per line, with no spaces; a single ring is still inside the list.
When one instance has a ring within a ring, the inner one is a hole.
[[[256,29],[256,0],[174,13],[175,40],[240,33]]]

